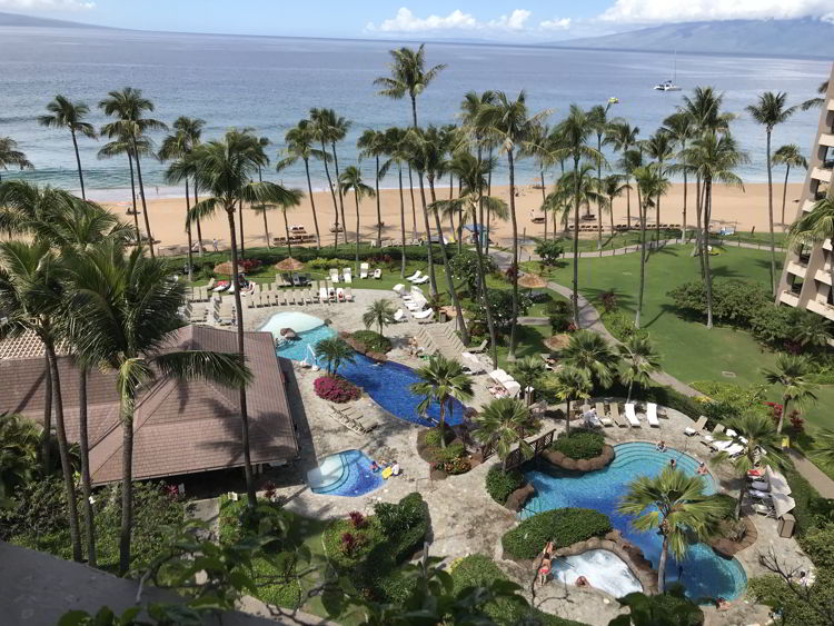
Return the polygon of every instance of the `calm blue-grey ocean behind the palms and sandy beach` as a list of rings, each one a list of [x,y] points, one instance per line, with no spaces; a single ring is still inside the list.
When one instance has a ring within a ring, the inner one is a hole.
[[[90,121],[105,122],[96,105],[111,89],[132,86],[156,103],[155,116],[168,123],[178,116],[203,118],[205,138],[229,127],[252,127],[272,145],[272,163],[285,131],[311,107],[332,107],[353,121],[339,146],[339,166],[356,163],[356,139],[367,128],[410,123],[407,100],[377,96],[373,81],[387,72],[393,42],[317,40],[270,37],[152,33],[119,30],[0,28],[0,136],[16,139],[36,165],[22,176],[66,188],[77,188],[71,142],[66,132],[39,127],[37,116],[56,93],[91,106]],[[742,113],[734,132],[752,163],[741,173],[746,181],[764,179],[764,131],[743,115],[744,107],[764,90],[782,90],[792,102],[812,97],[830,72],[830,61],[752,58],[743,56],[677,54],[679,92],[658,92],[656,82],[669,78],[673,56],[651,52],[555,49],[538,47],[429,43],[428,62],[446,63],[418,100],[420,123],[458,121],[468,90],[525,89],[533,111],[550,110],[558,121],[572,102],[588,108],[612,96],[620,103],[612,113],[626,118],[647,137],[674,112],[696,86],[725,92],[725,110]],[[797,112],[777,128],[774,147],[797,142],[808,150],[817,112]],[[155,139],[159,141],[162,135]],[[125,199],[129,187],[127,159],[97,159],[103,141],[81,139],[88,188],[95,199]],[[371,176],[370,161],[361,166]],[[167,187],[161,163],[146,159],[142,173],[150,198],[181,195]],[[506,180],[505,159],[495,175]],[[280,175],[272,166],[267,179],[305,186],[302,167]],[[324,170],[312,165],[314,185],[322,188]],[[537,175],[534,163],[518,162],[517,179]],[[7,176],[18,176],[2,172]],[[781,176],[778,172],[777,178]],[[796,180],[802,179],[796,172]],[[395,186],[390,177],[384,186]],[[110,190],[110,191],[108,191]]]

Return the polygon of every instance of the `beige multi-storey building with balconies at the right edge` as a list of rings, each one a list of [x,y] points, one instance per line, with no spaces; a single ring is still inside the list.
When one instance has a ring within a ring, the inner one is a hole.
[[[833,197],[832,171],[834,171],[834,66],[832,66],[828,91],[823,96],[820,126],[811,149],[808,172],[800,198],[798,216],[811,211],[814,205]],[[815,246],[802,246],[788,250],[782,272],[777,301],[791,307],[801,307],[834,320],[834,287],[832,287],[832,241],[826,239]]]

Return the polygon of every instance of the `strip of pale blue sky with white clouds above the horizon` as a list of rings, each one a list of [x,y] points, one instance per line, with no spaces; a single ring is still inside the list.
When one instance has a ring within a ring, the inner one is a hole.
[[[834,22],[832,0],[0,0],[0,11],[141,30],[514,42],[685,21]]]

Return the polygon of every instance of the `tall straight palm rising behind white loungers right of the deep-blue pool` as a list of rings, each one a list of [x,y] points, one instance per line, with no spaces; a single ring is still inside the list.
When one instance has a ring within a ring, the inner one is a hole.
[[[518,222],[516,220],[516,179],[515,159],[523,156],[525,145],[535,133],[536,127],[547,113],[530,117],[527,109],[527,95],[522,90],[515,100],[507,98],[503,91],[495,95],[495,103],[484,107],[476,120],[481,132],[500,145],[507,153],[509,168],[509,219],[513,223],[513,324],[509,331],[509,354],[507,359],[516,357],[518,326]]]

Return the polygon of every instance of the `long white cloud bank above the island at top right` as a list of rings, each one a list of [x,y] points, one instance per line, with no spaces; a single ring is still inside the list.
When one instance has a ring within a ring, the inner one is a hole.
[[[834,18],[831,0],[616,0],[599,19],[649,23],[808,17]]]

